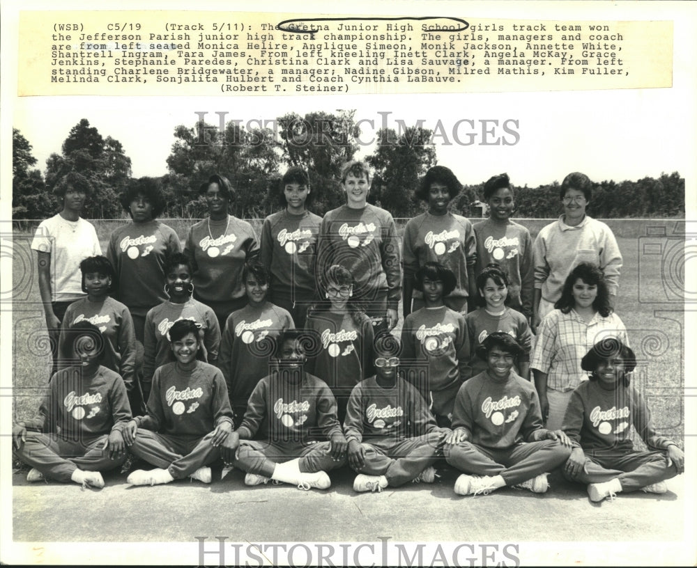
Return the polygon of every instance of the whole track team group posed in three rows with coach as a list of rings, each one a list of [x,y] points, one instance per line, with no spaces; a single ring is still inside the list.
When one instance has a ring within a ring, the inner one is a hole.
[[[448,210],[455,175],[430,168],[415,192],[428,209],[401,239],[367,203],[365,164],[346,164],[341,184],[346,204],[321,218],[290,168],[260,242],[212,175],[182,249],[157,220],[158,185],[134,180],[121,197],[132,221],[102,256],[79,216],[89,184],[63,178],[63,208],[31,244],[54,368],[38,416],[13,428],[27,480],[103,487],[100,471],[137,457],[154,468],[134,485],[210,483],[219,461],[247,485],[327,489],[348,464],[355,491],[381,491],[434,482],[445,460],[460,495],[543,493],[555,468],[592,501],[666,492],[684,455],[631,385],[613,311],[622,256],[585,213],[587,176],[567,175],[563,214],[534,242],[510,219],[506,174],[484,184],[489,218],[473,226]]]

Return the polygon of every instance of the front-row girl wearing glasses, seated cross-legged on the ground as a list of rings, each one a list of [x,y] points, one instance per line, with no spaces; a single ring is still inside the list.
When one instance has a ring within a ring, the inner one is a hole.
[[[450,429],[439,428],[415,386],[398,374],[399,342],[376,345],[375,375],[353,388],[344,432],[348,465],[358,472],[354,491],[382,491],[410,481],[432,483]]]

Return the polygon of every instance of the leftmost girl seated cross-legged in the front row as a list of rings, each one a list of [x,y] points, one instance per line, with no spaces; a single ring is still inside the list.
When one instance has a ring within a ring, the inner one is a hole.
[[[100,471],[125,459],[121,430],[131,416],[128,394],[121,377],[100,365],[105,339],[95,325],[77,322],[63,333],[75,365],[54,374],[36,418],[15,424],[13,450],[32,467],[27,481],[101,488]]]

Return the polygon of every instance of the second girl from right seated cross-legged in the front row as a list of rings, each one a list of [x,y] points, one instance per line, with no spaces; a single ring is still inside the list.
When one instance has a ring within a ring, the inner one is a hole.
[[[571,453],[558,433],[542,427],[535,387],[512,370],[522,352],[508,333],[491,333],[480,347],[487,370],[457,393],[443,454],[464,472],[455,482],[459,495],[487,495],[506,485],[544,493],[547,473]]]

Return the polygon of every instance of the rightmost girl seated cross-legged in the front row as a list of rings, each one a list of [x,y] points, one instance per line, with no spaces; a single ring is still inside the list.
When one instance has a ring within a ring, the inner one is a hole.
[[[634,352],[616,338],[595,344],[581,360],[592,375],[576,387],[567,407],[562,442],[574,449],[563,471],[588,484],[594,502],[613,500],[620,491],[663,494],[664,480],[684,471],[682,450],[657,434],[643,397],[629,384],[635,365]],[[648,452],[634,450],[632,425]]]

